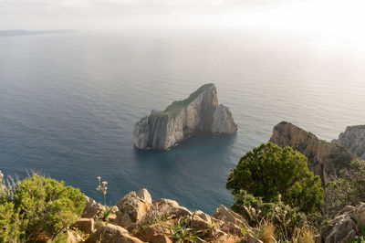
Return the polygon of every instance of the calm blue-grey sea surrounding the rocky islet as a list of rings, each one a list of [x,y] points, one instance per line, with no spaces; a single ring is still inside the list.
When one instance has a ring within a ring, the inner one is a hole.
[[[134,149],[134,123],[214,82],[238,123],[233,136]],[[316,38],[247,30],[70,32],[0,37],[0,170],[36,170],[101,201],[147,188],[212,213],[231,206],[231,168],[293,122],[331,140],[365,123],[365,54]]]

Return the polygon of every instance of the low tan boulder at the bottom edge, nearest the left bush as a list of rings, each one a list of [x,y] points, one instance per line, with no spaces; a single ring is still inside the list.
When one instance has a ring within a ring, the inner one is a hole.
[[[131,237],[123,227],[108,224],[107,226],[99,227],[85,242],[142,243],[143,241],[139,238]]]

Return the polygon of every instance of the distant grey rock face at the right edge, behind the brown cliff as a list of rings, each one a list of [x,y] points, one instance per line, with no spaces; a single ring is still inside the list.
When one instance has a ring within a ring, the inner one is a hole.
[[[347,127],[339,134],[339,139],[331,143],[345,146],[351,153],[365,159],[365,125]]]

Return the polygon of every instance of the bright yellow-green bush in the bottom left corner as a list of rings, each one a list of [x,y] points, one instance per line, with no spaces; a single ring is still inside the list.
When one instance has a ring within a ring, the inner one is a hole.
[[[0,238],[36,241],[56,238],[81,215],[85,196],[64,182],[32,174],[16,183],[0,205]],[[12,229],[13,228],[13,229]],[[9,233],[10,232],[10,233]],[[5,240],[6,241],[6,240]]]

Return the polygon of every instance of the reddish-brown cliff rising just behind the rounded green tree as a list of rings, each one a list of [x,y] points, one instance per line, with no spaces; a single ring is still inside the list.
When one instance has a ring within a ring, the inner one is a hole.
[[[270,142],[280,147],[290,146],[308,158],[308,168],[322,179],[323,185],[329,181],[328,175],[349,166],[356,159],[346,148],[319,140],[314,134],[297,126],[280,122],[274,127]]]

